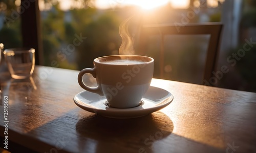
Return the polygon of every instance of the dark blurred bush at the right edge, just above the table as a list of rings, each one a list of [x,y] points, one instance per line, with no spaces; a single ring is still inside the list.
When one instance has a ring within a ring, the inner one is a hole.
[[[244,43],[241,42],[238,47],[231,49],[227,53],[227,57],[236,54],[238,59],[230,58],[232,62],[226,64],[229,72],[223,75],[219,87],[256,92],[256,46],[250,48],[249,51],[245,51],[244,56],[239,56],[238,51],[244,48]]]

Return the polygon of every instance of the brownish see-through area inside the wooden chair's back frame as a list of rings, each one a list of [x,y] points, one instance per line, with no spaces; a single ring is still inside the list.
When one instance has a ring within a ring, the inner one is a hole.
[[[164,37],[164,65],[160,68],[160,36],[148,42],[148,54],[155,63],[154,77],[201,84],[210,35],[167,35]]]

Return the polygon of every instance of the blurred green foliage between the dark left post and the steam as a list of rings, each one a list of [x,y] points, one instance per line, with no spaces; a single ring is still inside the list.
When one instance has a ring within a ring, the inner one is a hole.
[[[51,10],[42,12],[46,65],[52,66],[51,61],[55,60],[59,68],[81,70],[93,67],[93,59],[96,57],[118,53],[121,19],[117,14],[111,10],[102,12],[95,8],[65,12],[58,5],[54,3]],[[65,52],[69,45],[74,46],[76,36],[86,39],[82,39],[81,43],[76,41],[79,45],[75,46],[75,54],[69,50]]]

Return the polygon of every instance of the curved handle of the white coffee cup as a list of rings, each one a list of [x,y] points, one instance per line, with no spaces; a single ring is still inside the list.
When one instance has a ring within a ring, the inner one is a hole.
[[[90,73],[94,78],[96,78],[95,68],[94,69],[86,68],[86,69],[81,70],[78,74],[78,83],[81,86],[81,88],[83,88],[84,90],[87,90],[89,92],[96,93],[96,94],[99,94],[100,96],[103,96],[103,93],[99,89],[99,85],[96,87],[91,87],[91,86],[87,86],[86,84],[84,84],[84,82],[82,81],[82,76],[86,73]]]

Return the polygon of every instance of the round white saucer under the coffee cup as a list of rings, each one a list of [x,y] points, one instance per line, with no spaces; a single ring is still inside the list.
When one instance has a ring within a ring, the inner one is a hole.
[[[139,106],[133,108],[112,108],[106,98],[88,91],[78,93],[74,102],[83,110],[110,118],[137,118],[161,110],[173,101],[173,95],[166,90],[150,86]]]

